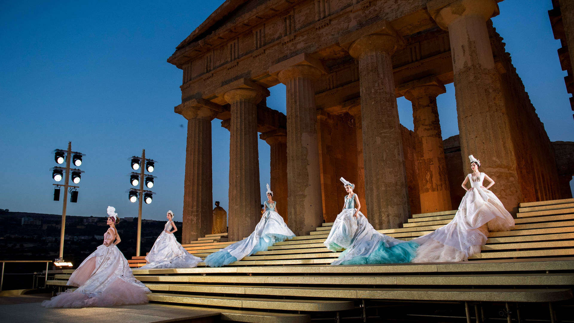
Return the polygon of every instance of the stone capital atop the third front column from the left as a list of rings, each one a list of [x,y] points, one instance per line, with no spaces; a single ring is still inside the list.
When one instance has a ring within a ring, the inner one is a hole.
[[[322,74],[327,74],[327,68],[309,53],[301,53],[269,67],[269,74],[278,78],[281,83],[297,77],[316,80]]]

